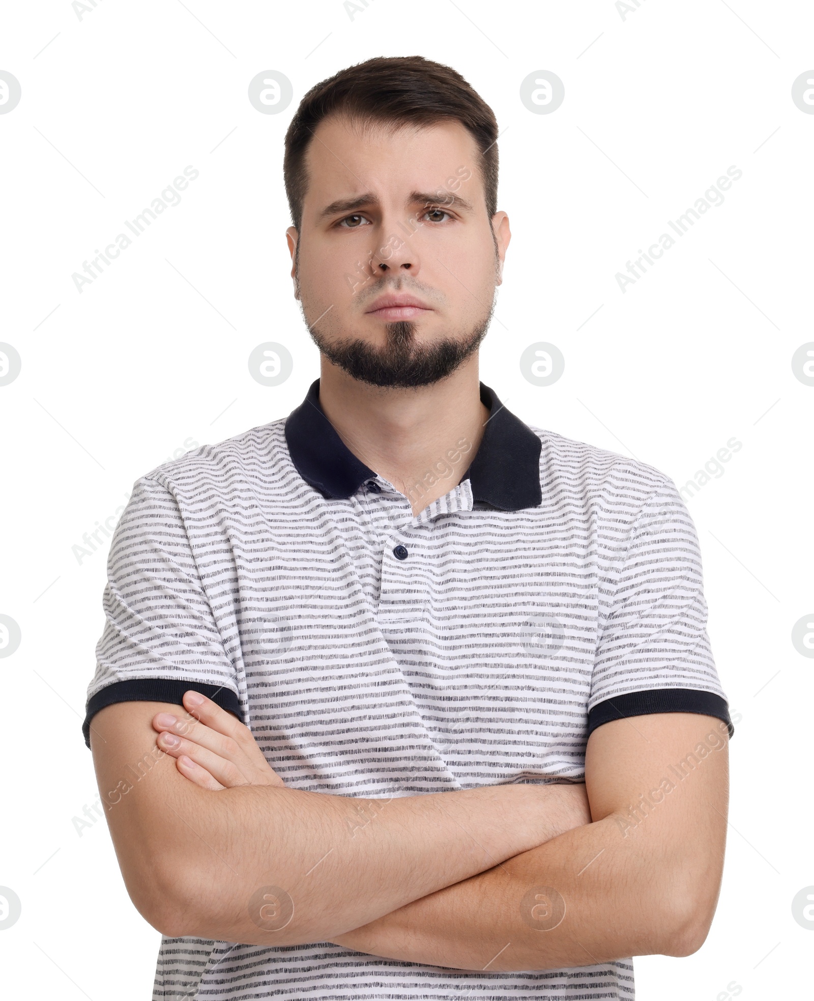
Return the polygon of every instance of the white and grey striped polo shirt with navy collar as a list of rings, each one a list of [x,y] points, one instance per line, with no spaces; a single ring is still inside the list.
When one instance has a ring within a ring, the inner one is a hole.
[[[698,539],[651,465],[490,410],[463,478],[413,515],[319,404],[138,479],[108,558],[88,687],[214,698],[290,789],[379,798],[580,782],[590,733],[646,713],[731,732]],[[471,447],[471,445],[470,445]],[[447,459],[449,461],[447,461]],[[421,488],[421,484],[417,484]],[[471,972],[326,942],[162,938],[154,999],[630,999],[631,959]]]

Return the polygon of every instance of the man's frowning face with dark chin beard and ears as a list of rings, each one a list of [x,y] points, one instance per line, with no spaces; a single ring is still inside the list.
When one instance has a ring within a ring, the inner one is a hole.
[[[292,276],[320,350],[355,378],[429,384],[485,334],[510,233],[487,215],[478,161],[458,122],[315,130]]]

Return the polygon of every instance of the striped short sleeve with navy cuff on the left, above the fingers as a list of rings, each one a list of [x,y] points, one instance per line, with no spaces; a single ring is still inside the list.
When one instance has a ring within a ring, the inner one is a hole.
[[[241,718],[235,670],[201,582],[178,503],[150,476],[137,480],[113,533],[82,732],[115,702],[181,705],[188,689]]]

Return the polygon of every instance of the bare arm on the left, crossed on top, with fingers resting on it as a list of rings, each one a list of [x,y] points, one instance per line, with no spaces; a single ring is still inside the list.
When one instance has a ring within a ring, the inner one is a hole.
[[[91,733],[128,892],[168,935],[261,945],[325,941],[590,819],[584,786],[493,786],[389,800],[286,789],[249,731],[215,703],[207,700],[199,712],[220,731],[191,716],[181,726],[170,709],[107,706]],[[224,781],[208,772],[202,785],[185,778],[182,767],[193,773],[184,760],[194,762],[159,751],[156,726],[177,730],[183,739],[175,753],[200,757]],[[203,743],[187,740],[190,730]],[[158,756],[145,754],[151,747]]]

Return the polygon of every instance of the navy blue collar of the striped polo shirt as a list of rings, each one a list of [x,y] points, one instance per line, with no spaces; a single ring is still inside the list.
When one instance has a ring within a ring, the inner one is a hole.
[[[461,480],[469,479],[475,500],[500,511],[536,508],[542,502],[542,443],[526,424],[506,409],[488,385],[480,398],[491,412],[480,447]],[[347,499],[376,473],[347,447],[319,405],[319,379],[285,422],[291,460],[302,478],[324,497]]]

